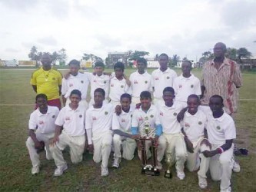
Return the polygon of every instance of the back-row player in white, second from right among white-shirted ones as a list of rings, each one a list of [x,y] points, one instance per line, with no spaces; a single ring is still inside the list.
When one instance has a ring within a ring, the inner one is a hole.
[[[173,81],[177,74],[172,69],[168,68],[168,55],[162,53],[159,56],[158,62],[160,68],[156,69],[151,74],[151,86],[154,91],[154,104],[158,101],[163,101],[162,92],[166,87],[172,87]]]

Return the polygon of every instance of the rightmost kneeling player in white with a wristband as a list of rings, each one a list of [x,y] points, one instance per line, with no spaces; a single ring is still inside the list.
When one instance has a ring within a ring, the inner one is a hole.
[[[236,138],[234,121],[224,112],[224,101],[219,95],[210,98],[206,129],[211,151],[203,151],[204,157],[210,158],[209,169],[212,180],[221,180],[221,191],[231,191],[231,174],[234,164],[233,140]]]

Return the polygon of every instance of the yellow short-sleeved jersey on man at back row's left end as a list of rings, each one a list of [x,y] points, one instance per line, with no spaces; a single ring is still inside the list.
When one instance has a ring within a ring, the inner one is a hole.
[[[62,74],[55,68],[45,71],[43,68],[32,73],[30,84],[36,85],[37,94],[46,94],[48,100],[59,98],[59,85],[62,85]]]

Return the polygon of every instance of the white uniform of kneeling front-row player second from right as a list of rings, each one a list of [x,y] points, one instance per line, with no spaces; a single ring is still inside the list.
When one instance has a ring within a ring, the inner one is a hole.
[[[206,146],[205,144],[201,145],[201,141],[204,140],[204,127],[206,121],[206,115],[203,111],[198,109],[198,111],[194,115],[186,111],[184,119],[181,122],[185,134],[188,136],[188,139],[189,141],[191,141],[194,148],[194,153],[188,152],[186,167],[189,171],[194,171],[198,170],[198,166],[200,165],[198,175],[204,178],[207,178],[206,172],[208,171],[209,167],[209,158],[204,157],[204,154],[201,154],[201,152],[205,150],[210,151],[210,147]],[[201,158],[200,164],[199,158]]]

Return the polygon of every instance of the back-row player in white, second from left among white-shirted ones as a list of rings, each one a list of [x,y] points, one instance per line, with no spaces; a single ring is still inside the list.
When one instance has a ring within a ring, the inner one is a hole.
[[[95,89],[97,88],[102,88],[105,91],[105,98],[108,97],[108,91],[109,91],[109,82],[111,75],[109,74],[104,74],[104,63],[101,61],[96,61],[95,62],[95,68],[94,68],[94,73],[86,73],[88,74],[88,78],[91,83],[91,101],[89,103],[89,106],[95,103],[94,100],[94,92]],[[105,101],[105,103],[108,103]]]

